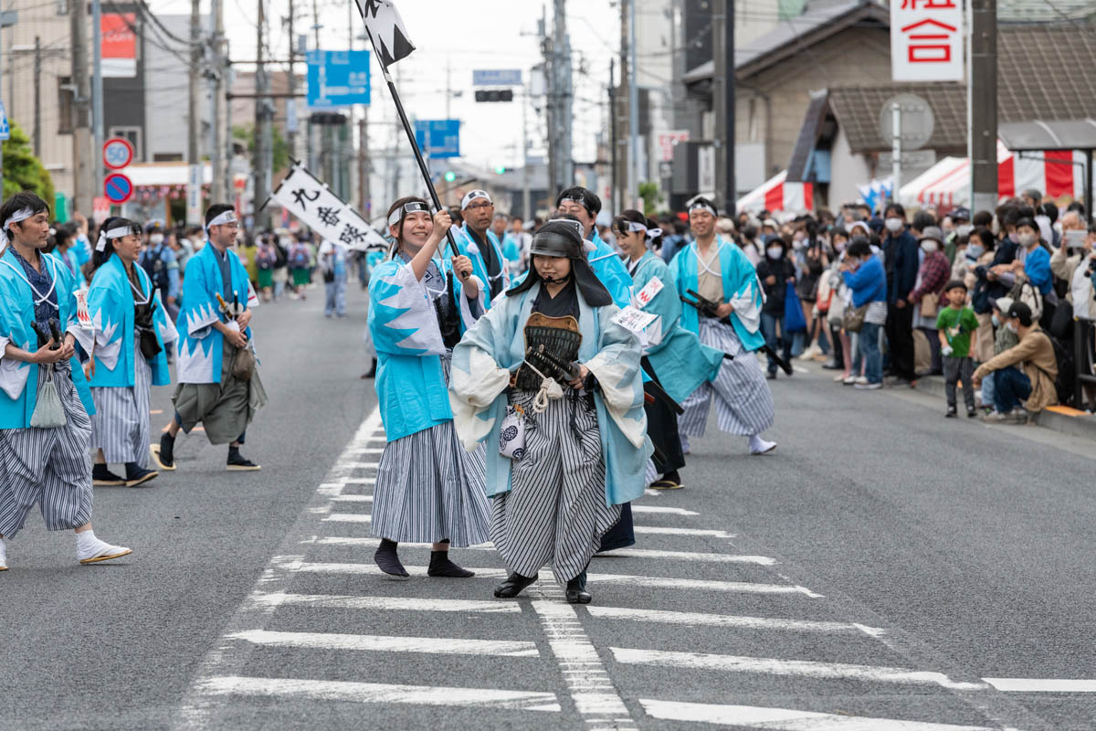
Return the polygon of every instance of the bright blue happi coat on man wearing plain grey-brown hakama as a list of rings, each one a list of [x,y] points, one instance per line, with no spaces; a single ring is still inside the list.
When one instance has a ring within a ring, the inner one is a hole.
[[[228,265],[231,273],[231,290],[246,309],[258,301],[250,297],[251,283],[240,258],[228,250]],[[179,312],[179,361],[175,366],[180,384],[219,384],[221,352],[225,336],[213,327],[221,319],[217,295],[224,296],[225,286],[220,275],[217,252],[208,240],[202,251],[186,262],[183,276],[183,308]],[[231,300],[226,300],[231,305]],[[244,333],[251,339],[251,328]]]

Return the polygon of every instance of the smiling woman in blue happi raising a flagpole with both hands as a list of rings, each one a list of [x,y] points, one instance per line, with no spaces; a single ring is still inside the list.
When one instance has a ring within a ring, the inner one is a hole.
[[[431,216],[419,197],[388,210],[391,256],[369,281],[369,333],[376,389],[388,443],[377,466],[370,530],[374,560],[406,578],[400,542],[433,544],[431,576],[467,578],[449,547],[488,540],[483,450],[465,452],[447,392],[453,347],[486,308],[486,285],[463,254],[438,255],[449,214]]]

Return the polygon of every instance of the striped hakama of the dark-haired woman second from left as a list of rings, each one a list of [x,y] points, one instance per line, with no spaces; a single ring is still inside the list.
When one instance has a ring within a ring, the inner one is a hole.
[[[91,416],[91,448],[102,449],[107,465],[137,462],[148,469],[148,401],[152,368],[140,351],[140,333],[134,336],[133,388],[91,389],[95,413]]]

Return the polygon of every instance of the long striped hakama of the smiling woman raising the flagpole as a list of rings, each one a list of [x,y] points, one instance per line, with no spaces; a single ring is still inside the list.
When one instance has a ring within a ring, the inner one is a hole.
[[[441,357],[448,381],[450,356]],[[370,533],[398,544],[487,542],[484,470],[483,445],[466,452],[453,421],[389,442],[377,466]]]

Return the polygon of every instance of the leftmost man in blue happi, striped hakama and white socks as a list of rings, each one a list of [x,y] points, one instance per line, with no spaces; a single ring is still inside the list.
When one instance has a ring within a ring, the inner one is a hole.
[[[7,541],[35,503],[47,530],[76,530],[80,563],[126,556],[128,548],[91,527],[94,406],[76,342],[92,335],[71,274],[42,255],[49,206],[16,193],[0,206],[0,571],[8,570]],[[35,329],[65,334],[57,342]]]

